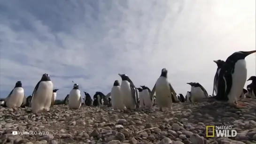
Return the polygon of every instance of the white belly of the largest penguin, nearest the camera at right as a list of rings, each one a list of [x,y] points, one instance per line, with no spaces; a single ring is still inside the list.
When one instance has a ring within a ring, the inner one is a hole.
[[[234,73],[232,74],[232,86],[228,94],[228,102],[233,104],[240,97],[247,78],[247,68],[245,60],[235,63]]]

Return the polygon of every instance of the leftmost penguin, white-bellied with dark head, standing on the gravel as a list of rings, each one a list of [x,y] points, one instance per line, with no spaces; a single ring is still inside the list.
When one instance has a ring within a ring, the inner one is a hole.
[[[5,99],[3,107],[20,107],[23,104],[24,99],[24,89],[22,88],[21,81],[17,81],[13,90],[9,93],[8,97]]]

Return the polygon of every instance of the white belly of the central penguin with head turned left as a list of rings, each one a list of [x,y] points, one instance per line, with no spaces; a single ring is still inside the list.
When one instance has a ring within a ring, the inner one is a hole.
[[[121,95],[124,99],[124,106],[129,109],[136,108],[136,103],[132,98],[132,90],[128,81],[122,81],[121,83]]]

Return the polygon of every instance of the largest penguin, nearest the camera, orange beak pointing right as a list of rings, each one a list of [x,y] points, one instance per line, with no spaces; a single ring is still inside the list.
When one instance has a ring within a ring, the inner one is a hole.
[[[240,97],[247,77],[247,68],[245,57],[254,51],[249,52],[235,52],[230,55],[222,66],[218,76],[218,92],[215,97],[216,100],[228,101],[229,104],[245,106],[243,103],[236,103]]]

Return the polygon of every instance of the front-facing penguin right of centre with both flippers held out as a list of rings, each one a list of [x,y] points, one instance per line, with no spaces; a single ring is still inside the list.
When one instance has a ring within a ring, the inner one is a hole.
[[[154,88],[152,89],[152,94],[156,94],[156,103],[160,111],[163,111],[163,107],[168,107],[172,109],[172,95],[177,95],[171,86],[171,83],[167,79],[167,69],[163,68],[161,71],[161,76],[157,79]],[[174,97],[175,101],[178,101],[177,97]]]

